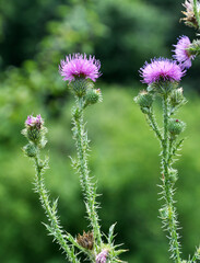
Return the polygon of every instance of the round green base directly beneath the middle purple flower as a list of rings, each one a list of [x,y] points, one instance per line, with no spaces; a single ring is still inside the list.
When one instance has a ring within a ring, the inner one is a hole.
[[[91,83],[84,78],[75,78],[69,85],[77,96],[82,98],[86,94],[90,84]]]

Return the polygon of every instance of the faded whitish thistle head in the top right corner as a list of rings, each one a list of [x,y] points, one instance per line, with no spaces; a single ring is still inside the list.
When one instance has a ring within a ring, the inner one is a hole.
[[[183,11],[183,13],[186,15],[186,18],[180,19],[180,21],[184,21],[186,25],[198,27],[197,18],[193,12],[193,0],[186,0],[183,5],[186,8],[186,11]],[[200,2],[197,1],[197,11],[200,12]]]

